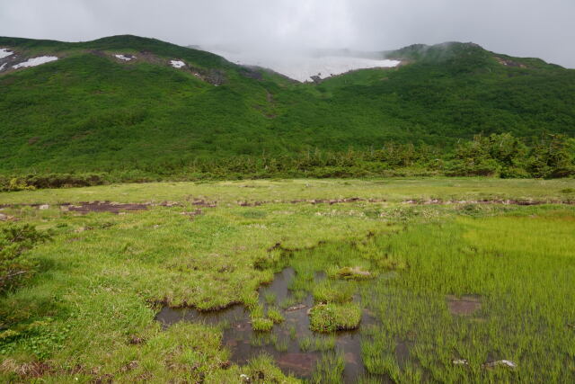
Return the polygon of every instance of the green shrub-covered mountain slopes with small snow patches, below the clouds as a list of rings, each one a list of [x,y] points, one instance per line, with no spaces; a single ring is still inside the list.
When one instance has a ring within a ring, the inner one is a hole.
[[[59,58],[0,73],[0,174],[170,173],[237,156],[365,151],[390,142],[449,151],[478,133],[575,136],[575,70],[471,43],[386,52],[403,65],[320,85],[135,36],[0,38],[0,48]]]

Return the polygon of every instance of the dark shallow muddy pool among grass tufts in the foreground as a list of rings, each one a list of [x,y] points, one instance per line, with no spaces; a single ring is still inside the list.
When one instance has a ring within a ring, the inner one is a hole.
[[[264,299],[267,292],[273,292],[276,295],[276,303],[289,298],[288,285],[294,274],[292,268],[287,268],[277,273],[270,285],[261,287],[260,302],[264,308],[267,309]],[[325,275],[316,274],[315,278],[323,279]],[[358,297],[354,299],[357,300]],[[252,331],[250,313],[242,305],[213,312],[165,307],[157,314],[156,320],[164,326],[170,326],[179,321],[202,322],[208,325],[224,323],[227,327],[224,331],[223,344],[231,351],[233,362],[243,365],[253,357],[267,353],[274,358],[282,371],[301,379],[312,375],[315,363],[321,357],[322,352],[314,351],[314,347],[304,351],[300,347],[300,342],[304,339],[326,341],[334,338],[336,351],[341,353],[345,359],[344,381],[356,382],[359,376],[367,373],[361,358],[359,331],[339,332],[334,335],[320,335],[310,331],[307,310],[313,304],[314,299],[308,295],[292,307],[281,310],[285,321],[275,325],[268,333]],[[360,326],[369,326],[375,322],[376,319],[364,311]]]

